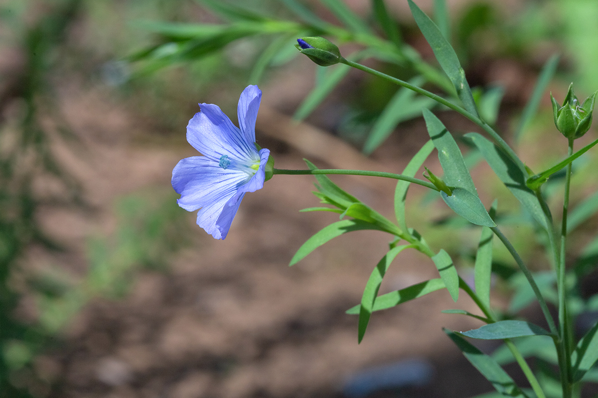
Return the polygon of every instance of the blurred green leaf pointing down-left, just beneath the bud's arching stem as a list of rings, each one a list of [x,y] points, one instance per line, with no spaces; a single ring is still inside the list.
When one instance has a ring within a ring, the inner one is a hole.
[[[409,81],[410,84],[421,86],[424,79],[419,76]],[[422,109],[431,108],[436,104],[434,100],[428,97],[416,97],[416,92],[401,87],[396,94],[386,104],[382,114],[372,127],[367,140],[365,140],[363,152],[370,155],[380,146],[396,128],[396,125],[403,121],[413,119],[422,113]]]

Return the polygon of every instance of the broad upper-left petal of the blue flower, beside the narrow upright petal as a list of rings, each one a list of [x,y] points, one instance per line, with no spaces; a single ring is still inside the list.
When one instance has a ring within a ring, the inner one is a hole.
[[[247,161],[257,155],[253,142],[248,143],[242,132],[214,104],[200,104],[187,125],[187,141],[202,155],[219,159],[222,155],[236,161]]]

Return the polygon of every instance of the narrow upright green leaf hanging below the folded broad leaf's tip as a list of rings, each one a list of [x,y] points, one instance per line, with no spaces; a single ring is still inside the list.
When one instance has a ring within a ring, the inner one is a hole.
[[[496,215],[496,206],[498,201],[495,200],[490,208],[490,217],[494,219]],[[489,227],[482,227],[480,236],[480,243],[478,243],[478,250],[475,254],[474,266],[474,283],[475,294],[486,308],[490,308],[490,287],[492,285],[492,237],[494,234]]]

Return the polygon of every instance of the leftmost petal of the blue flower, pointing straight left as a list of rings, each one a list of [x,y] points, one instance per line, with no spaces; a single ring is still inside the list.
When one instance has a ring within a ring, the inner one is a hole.
[[[247,181],[245,172],[223,169],[205,156],[182,159],[172,171],[172,187],[181,195],[177,202],[187,211],[223,206]]]

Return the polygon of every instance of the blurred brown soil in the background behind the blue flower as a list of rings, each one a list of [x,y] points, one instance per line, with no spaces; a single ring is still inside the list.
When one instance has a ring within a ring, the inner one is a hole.
[[[413,123],[393,135],[374,160],[365,159],[315,127],[291,124],[276,110],[277,96],[289,90],[276,82],[263,87],[258,116],[258,142],[273,151],[278,168],[304,168],[301,159],[309,157],[322,167],[400,172],[427,139],[423,126]],[[196,153],[184,142],[184,131],[168,140],[148,135],[149,127],[111,100],[109,91],[83,91],[74,82],[63,87],[60,103],[82,145],[57,144],[56,150],[83,184],[94,211],[44,209],[44,228],[68,243],[69,251],[53,257],[32,251],[31,257],[81,276],[86,239],[115,229],[114,200],[139,190],[170,189],[173,166]],[[52,396],[340,397],[353,372],[413,357],[431,362],[435,376],[410,396],[489,391],[441,330],[477,326],[469,318],[440,313],[475,312],[465,295],[455,304],[446,291],[438,291],[375,313],[364,341],[357,343],[357,318],[344,311],[359,303],[388,248],[385,234],[338,237],[288,267],[301,243],[338,220],[335,214],[299,212],[318,205],[310,193],[314,181],[278,175],[246,195],[226,240],[212,239],[194,224],[195,214],[188,214],[193,244],[172,257],[166,272],[144,271],[124,300],[93,300],[66,328],[66,344],[42,359],[59,381]],[[393,216],[392,181],[348,176],[334,181]],[[411,200],[421,193],[413,189]],[[442,206],[437,203],[432,212],[441,214]],[[428,258],[405,251],[380,293],[432,277],[437,271]]]

